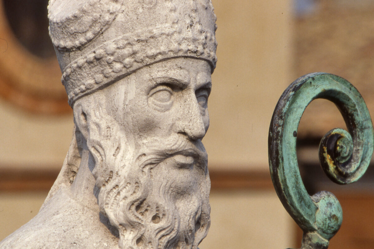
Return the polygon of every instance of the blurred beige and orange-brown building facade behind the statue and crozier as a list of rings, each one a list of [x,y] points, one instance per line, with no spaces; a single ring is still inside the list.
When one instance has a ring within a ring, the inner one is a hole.
[[[374,1],[212,2],[218,63],[209,97],[211,125],[203,139],[212,225],[200,247],[300,246],[301,232],[269,175],[273,109],[293,80],[325,71],[353,83],[373,116]],[[47,35],[46,5],[47,0],[0,0],[0,240],[38,212],[73,132],[73,114]],[[344,123],[334,105],[313,102],[298,130],[301,174],[310,193],[331,190],[341,200],[343,226],[330,248],[372,248],[374,222],[365,217],[374,200],[373,173],[353,187],[339,188],[318,168],[319,139],[335,127]]]

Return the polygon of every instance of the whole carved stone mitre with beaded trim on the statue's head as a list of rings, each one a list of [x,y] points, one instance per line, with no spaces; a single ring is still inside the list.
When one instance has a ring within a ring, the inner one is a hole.
[[[210,0],[50,0],[49,33],[69,105],[135,70],[173,57],[215,68]]]

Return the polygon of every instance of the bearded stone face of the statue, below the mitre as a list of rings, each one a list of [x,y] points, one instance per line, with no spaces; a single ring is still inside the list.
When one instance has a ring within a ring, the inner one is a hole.
[[[108,87],[87,117],[98,203],[121,248],[196,249],[208,233],[210,88],[206,61],[169,59]]]

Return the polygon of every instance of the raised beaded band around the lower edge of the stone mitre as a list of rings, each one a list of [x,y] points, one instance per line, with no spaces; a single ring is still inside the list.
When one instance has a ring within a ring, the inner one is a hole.
[[[124,77],[142,66],[172,57],[191,56],[207,60],[215,68],[217,42],[214,34],[182,36],[172,26],[123,35],[71,62],[62,73],[69,105],[102,85]],[[154,49],[157,47],[157,49]]]

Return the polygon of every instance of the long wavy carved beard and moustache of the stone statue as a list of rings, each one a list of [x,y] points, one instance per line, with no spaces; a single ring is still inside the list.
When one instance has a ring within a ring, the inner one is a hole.
[[[98,204],[118,228],[120,248],[197,249],[210,225],[210,180],[201,141],[193,144],[176,134],[150,138],[132,150],[129,141],[121,141],[119,125],[94,127],[88,147],[95,159]],[[189,168],[175,165],[181,151],[193,155]]]

